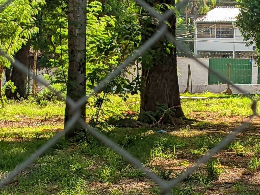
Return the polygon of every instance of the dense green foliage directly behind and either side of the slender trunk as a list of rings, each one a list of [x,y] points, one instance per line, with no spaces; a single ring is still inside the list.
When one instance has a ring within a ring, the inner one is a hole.
[[[35,40],[35,47],[42,52],[41,66],[57,68],[54,71],[54,77],[50,78],[47,75],[46,79],[51,80],[52,83],[63,84],[65,91],[68,72],[67,7],[65,2],[62,2],[60,6],[55,5],[46,4],[45,6],[46,9],[39,22],[41,30]],[[108,1],[107,4],[102,5],[99,1],[93,1],[88,4],[87,91],[97,86],[139,45],[140,27],[137,11],[133,2],[126,4],[124,1]],[[105,90],[110,93],[125,93],[130,89],[127,87],[129,82],[119,77],[110,82]],[[133,90],[133,87],[131,89]]]

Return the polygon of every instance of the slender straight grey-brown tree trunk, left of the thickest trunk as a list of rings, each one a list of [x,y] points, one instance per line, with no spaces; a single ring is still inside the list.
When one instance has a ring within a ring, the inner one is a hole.
[[[86,97],[86,0],[69,0],[68,10],[68,31],[69,31],[69,72],[67,97],[75,102]],[[81,118],[86,120],[86,104],[80,109]],[[68,103],[65,109],[65,127],[75,110],[72,110]],[[79,123],[67,133],[67,138],[83,132],[84,129]],[[77,138],[76,138],[77,139]]]

